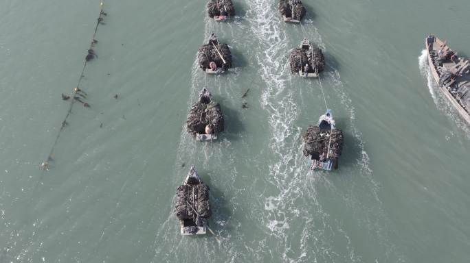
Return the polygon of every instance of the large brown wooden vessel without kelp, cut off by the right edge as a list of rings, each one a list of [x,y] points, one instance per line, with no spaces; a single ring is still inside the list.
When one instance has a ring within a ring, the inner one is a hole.
[[[427,60],[432,76],[460,116],[470,124],[470,68],[469,61],[457,56],[457,52],[436,36],[425,40]]]

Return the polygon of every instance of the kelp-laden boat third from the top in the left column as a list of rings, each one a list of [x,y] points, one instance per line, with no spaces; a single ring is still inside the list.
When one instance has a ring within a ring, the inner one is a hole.
[[[203,89],[199,101],[192,106],[188,121],[186,121],[188,132],[194,136],[206,134],[206,127],[208,127],[212,134],[215,134],[223,132],[223,125],[221,105],[212,101],[210,92]]]

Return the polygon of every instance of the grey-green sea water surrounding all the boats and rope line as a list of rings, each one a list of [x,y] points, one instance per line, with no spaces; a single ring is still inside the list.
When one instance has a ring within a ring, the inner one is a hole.
[[[422,53],[437,34],[470,55],[467,1],[306,0],[303,27],[276,1],[234,2],[214,23],[201,0],[107,0],[80,84],[91,107],[74,104],[55,146],[100,1],[0,4],[0,262],[468,262],[470,129]],[[234,68],[205,78],[210,32]],[[321,86],[289,71],[304,37],[324,49]],[[226,116],[211,144],[183,130],[206,85]],[[332,173],[302,156],[322,88],[346,138]],[[190,164],[217,238],[179,235]]]

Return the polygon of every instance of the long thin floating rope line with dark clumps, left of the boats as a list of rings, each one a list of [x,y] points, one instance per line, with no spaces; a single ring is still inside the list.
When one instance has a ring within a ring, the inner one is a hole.
[[[60,130],[59,130],[59,132],[56,136],[56,140],[52,144],[51,151],[49,151],[49,155],[47,156],[47,160],[45,160],[45,162],[43,162],[41,164],[41,168],[43,168],[44,171],[49,171],[49,162],[51,162],[53,160],[52,155],[54,153],[54,149],[56,148],[56,145],[58,143],[58,139],[60,138],[60,134],[65,129],[65,126],[67,126],[67,124],[68,124],[67,123],[67,118],[69,118],[69,116],[71,114],[71,110],[72,110],[72,107],[74,106],[74,103],[76,101],[79,101],[85,107],[89,107],[88,103],[84,103],[80,99],[80,97],[85,98],[87,96],[87,93],[80,90],[80,83],[82,82],[83,77],[85,77],[85,75],[83,75],[83,74],[85,73],[85,68],[87,67],[87,62],[89,60],[93,59],[95,56],[98,58],[98,56],[93,51],[93,46],[98,42],[97,40],[95,40],[95,37],[96,37],[96,32],[98,32],[98,25],[100,25],[100,23],[104,20],[102,16],[107,16],[107,13],[103,12],[103,8],[104,8],[104,0],[100,1],[100,16],[98,16],[98,19],[96,21],[95,32],[93,33],[93,38],[91,38],[91,44],[90,44],[90,47],[88,49],[87,58],[85,58],[85,63],[83,64],[82,73],[80,73],[80,77],[78,77],[77,86],[76,86],[76,88],[74,88],[72,96],[71,96],[71,102],[70,102],[70,105],[69,105],[69,110],[67,110],[67,114],[65,115],[65,118],[62,121],[62,124],[60,126]],[[68,97],[68,98],[70,98],[70,97]],[[63,96],[63,99],[64,99],[64,96]]]

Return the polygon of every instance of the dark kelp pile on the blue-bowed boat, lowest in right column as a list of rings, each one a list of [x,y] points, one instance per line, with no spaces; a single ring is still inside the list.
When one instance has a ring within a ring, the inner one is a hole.
[[[320,129],[318,126],[310,125],[302,138],[304,139],[305,156],[319,156],[320,161],[323,161],[321,160],[322,156],[324,158],[328,156],[328,158],[337,159],[341,155],[343,149],[343,132],[341,129],[325,130]]]

